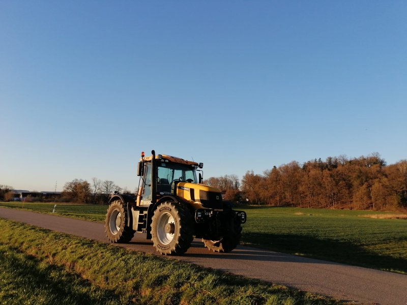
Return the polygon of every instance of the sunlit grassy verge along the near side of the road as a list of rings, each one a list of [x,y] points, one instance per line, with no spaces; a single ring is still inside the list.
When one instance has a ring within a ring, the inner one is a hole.
[[[339,304],[9,220],[0,226],[0,303]]]

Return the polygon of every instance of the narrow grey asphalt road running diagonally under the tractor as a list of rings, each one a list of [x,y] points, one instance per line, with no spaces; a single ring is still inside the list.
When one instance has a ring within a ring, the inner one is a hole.
[[[0,208],[0,217],[107,242],[100,223],[9,208]],[[119,246],[156,253],[145,234]],[[361,304],[407,304],[407,275],[397,273],[243,246],[230,253],[213,253],[198,239],[183,256],[171,258]]]

